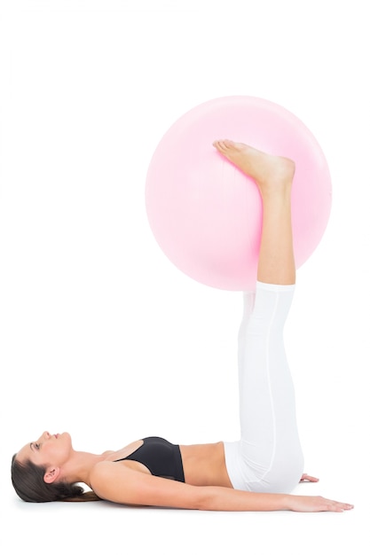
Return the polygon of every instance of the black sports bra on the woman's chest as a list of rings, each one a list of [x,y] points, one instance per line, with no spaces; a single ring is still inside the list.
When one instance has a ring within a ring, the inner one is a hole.
[[[185,481],[183,461],[178,445],[161,437],[146,437],[143,444],[128,457],[121,460],[134,460],[145,465],[151,474],[169,480]]]

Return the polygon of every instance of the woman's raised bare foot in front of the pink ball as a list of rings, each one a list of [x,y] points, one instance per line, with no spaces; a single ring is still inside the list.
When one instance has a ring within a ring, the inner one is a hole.
[[[234,143],[229,139],[215,141],[213,145],[227,160],[247,176],[252,177],[261,192],[279,184],[285,186],[292,184],[295,175],[293,160],[273,156],[244,143]]]

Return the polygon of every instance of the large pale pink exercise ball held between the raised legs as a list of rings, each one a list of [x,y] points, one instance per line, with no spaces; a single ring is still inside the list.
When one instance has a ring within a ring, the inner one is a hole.
[[[146,177],[146,213],[161,250],[204,285],[256,285],[262,202],[255,182],[212,146],[231,138],[295,160],[295,263],[318,246],[331,209],[327,160],[293,113],[262,98],[216,98],[195,106],[161,138]]]

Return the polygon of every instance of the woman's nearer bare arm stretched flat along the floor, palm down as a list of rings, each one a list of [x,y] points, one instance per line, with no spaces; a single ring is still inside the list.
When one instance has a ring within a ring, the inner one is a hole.
[[[91,489],[107,501],[201,511],[342,512],[352,508],[324,497],[240,491],[217,486],[192,486],[141,473],[111,462],[98,463]]]

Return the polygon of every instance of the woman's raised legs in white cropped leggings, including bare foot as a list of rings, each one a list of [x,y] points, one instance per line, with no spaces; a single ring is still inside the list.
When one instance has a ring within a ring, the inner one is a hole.
[[[295,392],[283,328],[295,289],[290,194],[295,164],[248,145],[216,141],[216,149],[255,179],[263,199],[256,296],[244,293],[240,326],[240,442],[224,443],[232,485],[289,492],[303,473]]]

